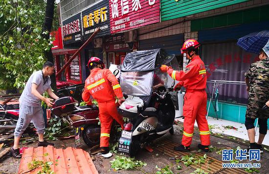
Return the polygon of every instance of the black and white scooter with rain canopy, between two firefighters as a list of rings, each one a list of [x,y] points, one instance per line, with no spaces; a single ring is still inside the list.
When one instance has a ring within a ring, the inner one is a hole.
[[[167,132],[174,133],[175,106],[169,94],[173,88],[168,88],[166,81],[156,91],[152,90],[157,76],[166,75],[157,75],[159,67],[170,63],[174,57],[162,49],[135,51],[128,53],[118,67],[126,98],[118,107],[118,113],[129,119],[121,132],[118,152],[134,156]],[[162,79],[167,80],[168,76]],[[174,84],[175,81],[172,86]]]

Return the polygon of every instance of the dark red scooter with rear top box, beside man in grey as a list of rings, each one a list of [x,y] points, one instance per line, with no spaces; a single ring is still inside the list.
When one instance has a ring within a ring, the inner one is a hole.
[[[75,128],[76,147],[81,145],[81,136],[89,147],[98,145],[101,132],[100,125],[98,125],[98,107],[95,105],[75,106],[75,102],[75,99],[70,96],[56,99],[51,113],[66,121],[70,127]]]

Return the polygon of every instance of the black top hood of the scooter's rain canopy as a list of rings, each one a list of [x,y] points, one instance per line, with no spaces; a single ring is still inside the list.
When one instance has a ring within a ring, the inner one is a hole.
[[[174,57],[175,54],[169,55],[163,49],[134,51],[126,55],[119,69],[125,72],[153,71]]]

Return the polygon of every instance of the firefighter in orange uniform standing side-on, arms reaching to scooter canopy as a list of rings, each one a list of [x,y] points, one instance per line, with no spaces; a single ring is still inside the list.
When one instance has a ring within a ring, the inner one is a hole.
[[[190,151],[195,120],[200,130],[201,139],[198,148],[207,152],[210,145],[209,128],[205,118],[207,102],[205,92],[206,70],[198,55],[199,47],[200,44],[194,39],[184,42],[180,49],[181,54],[186,53],[187,58],[191,61],[184,71],[174,71],[166,65],[162,65],[160,68],[162,72],[167,72],[173,79],[179,81],[175,88],[181,86],[186,88],[183,106],[183,137],[181,145],[174,148],[178,151]]]

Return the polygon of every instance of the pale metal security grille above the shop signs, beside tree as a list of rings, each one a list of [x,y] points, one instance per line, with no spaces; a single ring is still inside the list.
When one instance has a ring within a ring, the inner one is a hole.
[[[61,0],[61,15],[62,20],[81,11],[83,8],[95,3],[99,0]]]

